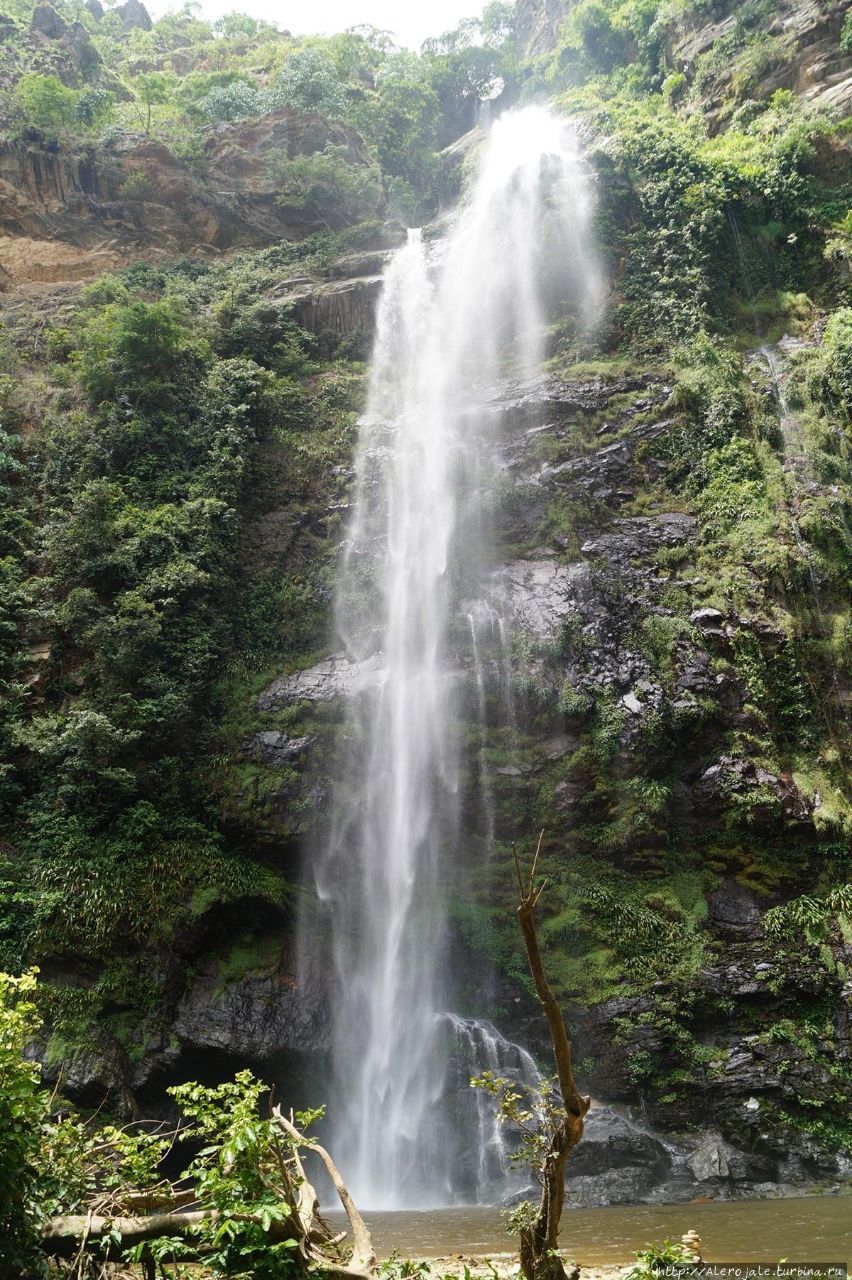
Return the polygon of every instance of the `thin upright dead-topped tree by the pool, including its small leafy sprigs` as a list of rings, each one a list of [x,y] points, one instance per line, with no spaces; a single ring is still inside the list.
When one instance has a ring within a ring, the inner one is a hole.
[[[516,1087],[509,1080],[496,1079],[490,1073],[485,1073],[471,1083],[494,1094],[501,1119],[513,1123],[521,1130],[521,1153],[530,1161],[533,1176],[541,1187],[537,1207],[526,1203],[513,1213],[513,1225],[521,1234],[521,1270],[527,1280],[564,1280],[565,1271],[556,1252],[556,1243],[565,1197],[565,1164],[583,1135],[583,1124],[591,1106],[591,1098],[583,1097],[577,1089],[571,1041],[559,1004],[548,982],[539,947],[535,910],[546,887],[546,881],[540,886],[536,883],[536,868],[542,840],[544,832],[539,836],[530,879],[526,884],[517,849],[513,852],[521,895],[518,924],[536,995],[548,1019],[556,1065],[556,1087],[554,1089],[550,1083],[546,1083],[539,1096],[530,1100],[532,1105],[525,1106],[525,1100],[516,1092]]]

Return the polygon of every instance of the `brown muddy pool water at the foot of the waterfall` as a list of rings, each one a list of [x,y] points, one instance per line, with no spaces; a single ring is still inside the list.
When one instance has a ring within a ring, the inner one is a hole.
[[[496,1208],[441,1208],[365,1213],[376,1249],[388,1257],[505,1253],[513,1242]],[[632,1204],[569,1210],[563,1248],[581,1266],[627,1263],[646,1244],[695,1228],[709,1262],[851,1262],[852,1196],[771,1201]]]

